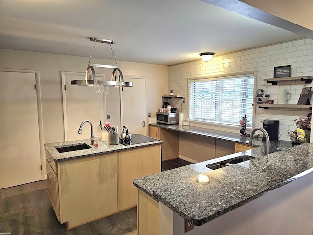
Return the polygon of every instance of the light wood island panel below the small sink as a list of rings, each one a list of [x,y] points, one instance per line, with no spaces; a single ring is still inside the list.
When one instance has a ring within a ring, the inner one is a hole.
[[[116,165],[116,153],[60,162],[61,223],[73,228],[117,211]]]

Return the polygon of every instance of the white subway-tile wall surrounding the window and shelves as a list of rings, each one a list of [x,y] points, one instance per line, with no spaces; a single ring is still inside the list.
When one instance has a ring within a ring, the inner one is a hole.
[[[182,95],[187,98],[188,78],[257,71],[256,89],[263,89],[265,94],[270,94],[270,98],[276,104],[278,90],[288,89],[292,95],[288,104],[296,104],[302,87],[311,87],[312,84],[291,81],[279,82],[277,86],[273,86],[263,81],[265,78],[273,78],[275,66],[283,65],[291,65],[291,76],[313,76],[313,40],[301,39],[214,56],[209,62],[204,62],[200,59],[173,65],[169,67],[168,87],[173,89],[176,95]],[[187,102],[183,104],[182,110],[186,118]],[[255,126],[261,126],[261,121],[264,119],[279,120],[280,140],[290,141],[287,132],[296,130],[294,119],[300,116],[307,116],[311,111],[291,108],[268,110],[256,108],[255,112]],[[209,126],[209,128],[217,129],[214,126]],[[229,131],[229,129],[223,130]],[[236,132],[239,133],[239,126]]]

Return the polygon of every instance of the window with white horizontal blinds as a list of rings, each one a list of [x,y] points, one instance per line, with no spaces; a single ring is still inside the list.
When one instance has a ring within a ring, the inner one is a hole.
[[[190,80],[189,119],[239,125],[246,114],[252,120],[253,84],[251,74]]]

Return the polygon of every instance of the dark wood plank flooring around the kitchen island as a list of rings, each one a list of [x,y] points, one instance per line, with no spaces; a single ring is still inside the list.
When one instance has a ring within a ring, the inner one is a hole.
[[[162,163],[162,171],[191,164],[182,159]],[[52,209],[46,181],[0,189],[0,233],[12,235],[137,235],[132,208],[67,230]]]

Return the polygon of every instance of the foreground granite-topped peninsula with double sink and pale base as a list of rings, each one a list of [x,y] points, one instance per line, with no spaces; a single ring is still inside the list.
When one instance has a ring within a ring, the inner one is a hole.
[[[207,167],[243,156],[253,158]],[[135,179],[138,234],[184,234],[187,221],[195,225],[188,235],[311,235],[312,171],[313,144],[306,143],[269,155],[251,149]],[[158,221],[152,230],[150,219]]]

